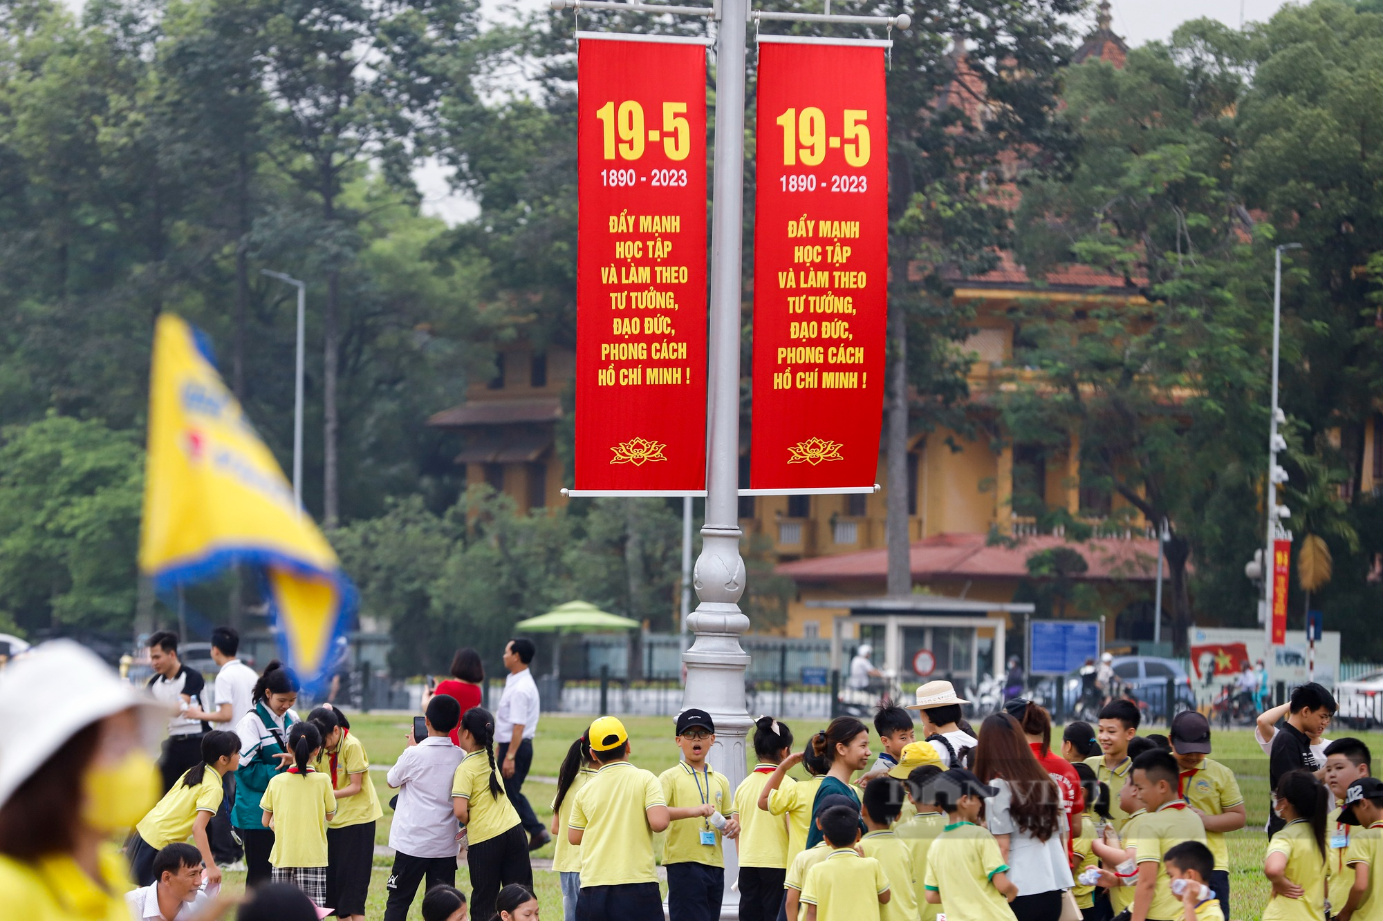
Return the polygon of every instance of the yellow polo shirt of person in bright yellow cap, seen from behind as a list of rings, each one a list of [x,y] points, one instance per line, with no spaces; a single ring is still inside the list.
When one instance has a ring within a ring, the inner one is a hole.
[[[567,819],[568,828],[584,831],[582,888],[657,882],[646,813],[665,805],[662,784],[653,773],[626,761],[602,765],[577,794]]]

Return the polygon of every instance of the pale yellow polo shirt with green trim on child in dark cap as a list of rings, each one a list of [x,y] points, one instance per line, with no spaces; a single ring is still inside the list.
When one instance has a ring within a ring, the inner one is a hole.
[[[1008,899],[993,882],[1007,870],[994,835],[969,821],[956,821],[942,828],[932,844],[922,888],[940,893],[940,910],[947,918],[1014,921]]]

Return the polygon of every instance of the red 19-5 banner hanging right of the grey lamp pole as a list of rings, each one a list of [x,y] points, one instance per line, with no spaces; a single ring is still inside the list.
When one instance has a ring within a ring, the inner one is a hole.
[[[759,46],[755,490],[871,487],[888,318],[884,50]]]

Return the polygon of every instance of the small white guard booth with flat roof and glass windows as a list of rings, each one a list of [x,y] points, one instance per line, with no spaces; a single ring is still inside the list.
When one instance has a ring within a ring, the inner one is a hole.
[[[874,668],[907,703],[916,686],[929,680],[949,680],[957,691],[979,687],[987,675],[1003,682],[1008,618],[1033,613],[1032,604],[935,595],[812,600],[806,607],[849,610],[831,628],[831,668],[841,671],[842,686],[855,650],[869,643]]]

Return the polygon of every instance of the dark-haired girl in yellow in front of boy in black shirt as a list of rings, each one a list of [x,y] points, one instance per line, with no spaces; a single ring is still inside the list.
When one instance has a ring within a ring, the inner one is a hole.
[[[1272,896],[1263,921],[1325,917],[1325,785],[1308,770],[1289,770],[1278,780],[1272,810],[1288,824],[1268,842],[1263,873]],[[1304,904],[1303,904],[1304,903]]]

